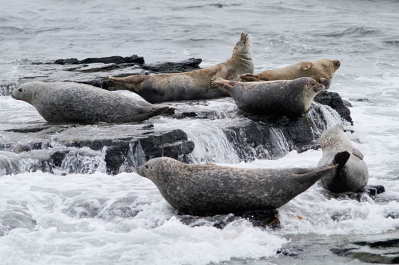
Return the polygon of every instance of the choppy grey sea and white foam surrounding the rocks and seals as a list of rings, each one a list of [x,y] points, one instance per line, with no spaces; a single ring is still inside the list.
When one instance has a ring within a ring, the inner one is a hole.
[[[58,58],[138,54],[148,63],[196,57],[204,60],[202,66],[212,65],[229,58],[241,32],[251,37],[257,72],[301,60],[339,59],[330,90],[354,106],[353,136],[361,143],[353,144],[365,156],[369,183],[387,188],[375,201],[358,202],[331,198],[314,185],[279,210],[281,229],[245,220],[217,229],[206,219],[197,221],[201,226],[182,222],[155,185],[135,173],[4,175],[1,264],[357,264],[328,249],[369,234],[398,237],[399,220],[386,218],[399,212],[398,1],[0,4],[6,10],[0,14],[0,85],[34,75],[31,62]],[[209,106],[234,107],[223,101]],[[0,109],[0,129],[44,122],[33,107],[8,96],[0,97]],[[185,126],[180,129],[200,147],[199,162],[310,167],[321,158],[320,150],[312,150],[239,163],[217,124],[234,119],[170,122]],[[168,124],[161,119],[156,126]],[[300,259],[275,257],[277,249],[295,246],[303,249]]]

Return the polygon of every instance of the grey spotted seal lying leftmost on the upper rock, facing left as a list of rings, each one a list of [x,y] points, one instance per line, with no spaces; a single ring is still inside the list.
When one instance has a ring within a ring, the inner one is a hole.
[[[27,82],[14,90],[11,97],[33,105],[49,122],[124,123],[174,111],[75,82]]]

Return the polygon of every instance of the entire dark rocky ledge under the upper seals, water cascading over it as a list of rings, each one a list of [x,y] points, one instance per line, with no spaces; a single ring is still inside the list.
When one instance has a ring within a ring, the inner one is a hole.
[[[35,67],[35,75],[21,77],[17,83],[76,81],[104,87],[108,75],[184,72],[198,69],[201,59],[145,64],[144,59],[133,55],[129,58],[61,59],[56,63],[59,65],[53,62],[31,65]],[[218,156],[202,159],[192,153],[201,143],[198,139],[190,139],[190,134],[187,136],[184,130],[187,124],[190,128],[192,124],[205,126],[207,130],[207,124],[198,123],[201,120],[215,121],[222,131],[222,139],[210,135],[201,141],[224,141],[232,146],[232,153],[239,161],[281,158],[292,150],[318,148],[318,138],[328,126],[341,119],[351,122],[348,107],[334,92],[325,92],[315,99],[309,113],[298,119],[247,115],[239,112],[231,98],[166,104],[175,107],[174,116],[153,118],[143,124],[13,125],[14,129],[0,131],[0,175],[37,170],[61,174],[120,173],[135,171],[137,166],[157,156],[170,156],[187,163],[223,162],[218,161]],[[185,126],[180,126],[180,121]],[[191,131],[191,138],[198,134],[200,130]],[[220,150],[211,146],[204,148],[203,153],[214,151]]]

